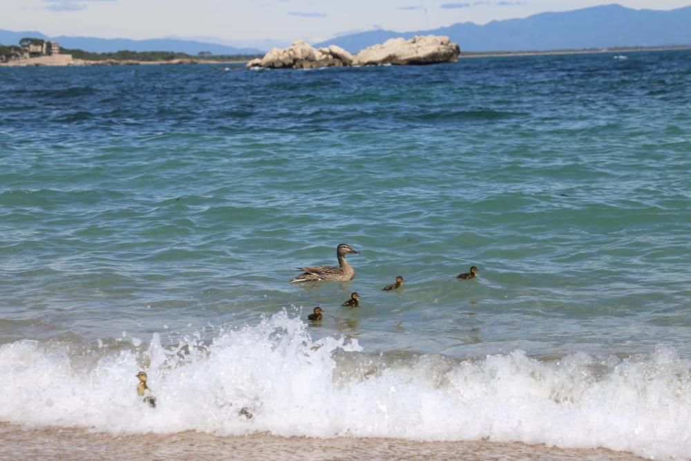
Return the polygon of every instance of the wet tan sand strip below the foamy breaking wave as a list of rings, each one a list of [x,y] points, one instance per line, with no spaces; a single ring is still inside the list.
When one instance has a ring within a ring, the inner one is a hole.
[[[0,423],[0,459],[35,460],[641,460],[605,449],[543,444],[413,442],[375,438],[222,437],[205,433],[111,435]]]

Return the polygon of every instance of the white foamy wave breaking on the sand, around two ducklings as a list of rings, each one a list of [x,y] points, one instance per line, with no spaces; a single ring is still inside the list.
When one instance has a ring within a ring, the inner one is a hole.
[[[164,348],[154,335],[143,354],[105,355],[95,366],[36,341],[0,346],[0,420],[113,433],[489,438],[691,456],[691,364],[671,348],[628,359],[539,361],[515,351],[392,360],[364,354],[357,341],[313,341],[285,312],[222,332],[209,346],[186,341]],[[136,395],[140,369],[156,408]]]

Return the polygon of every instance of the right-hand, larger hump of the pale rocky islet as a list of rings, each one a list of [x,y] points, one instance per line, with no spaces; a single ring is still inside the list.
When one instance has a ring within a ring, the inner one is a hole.
[[[418,35],[410,40],[389,39],[383,44],[365,48],[355,55],[353,66],[456,62],[460,53],[459,46],[446,36]]]

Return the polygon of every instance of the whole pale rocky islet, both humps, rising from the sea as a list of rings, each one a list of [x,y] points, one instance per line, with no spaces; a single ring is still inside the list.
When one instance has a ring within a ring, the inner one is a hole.
[[[456,62],[461,50],[448,37],[419,35],[412,39],[389,39],[353,56],[335,45],[313,48],[303,40],[285,50],[272,48],[261,59],[252,59],[247,68],[319,68],[332,66],[424,65]]]

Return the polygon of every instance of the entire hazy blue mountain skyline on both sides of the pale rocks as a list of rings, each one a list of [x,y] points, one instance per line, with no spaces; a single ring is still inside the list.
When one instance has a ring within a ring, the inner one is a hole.
[[[453,26],[413,32],[371,30],[343,35],[314,46],[341,46],[351,53],[390,38],[414,35],[448,35],[462,51],[564,50],[616,46],[691,45],[691,6],[676,10],[633,10],[620,5],[594,6],[566,12],[545,12],[525,19],[491,21],[484,26],[457,23]],[[46,37],[41,32],[0,30],[0,44],[16,45],[23,37],[57,41],[64,48],[95,53],[173,51],[196,55],[261,55],[266,50],[243,48],[186,39],[100,39],[93,37]],[[268,43],[268,42],[267,42]]]

